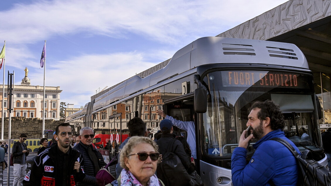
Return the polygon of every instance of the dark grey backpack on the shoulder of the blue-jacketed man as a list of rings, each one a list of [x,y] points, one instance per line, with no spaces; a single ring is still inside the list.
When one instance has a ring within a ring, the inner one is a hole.
[[[305,150],[300,155],[293,146],[282,138],[272,138],[287,147],[297,159],[299,170],[298,185],[327,186],[331,185],[331,173],[329,170],[312,159],[311,151]]]

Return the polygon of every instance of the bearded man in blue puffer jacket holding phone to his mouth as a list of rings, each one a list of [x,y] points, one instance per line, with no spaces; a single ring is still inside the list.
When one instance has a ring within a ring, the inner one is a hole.
[[[247,126],[251,134],[246,138],[246,130],[240,136],[239,146],[231,157],[233,185],[297,185],[298,166],[296,158],[284,145],[272,138],[282,138],[294,149],[299,149],[285,137],[284,116],[273,101],[255,102],[249,109]],[[252,139],[259,141],[252,159],[246,163],[246,148]]]

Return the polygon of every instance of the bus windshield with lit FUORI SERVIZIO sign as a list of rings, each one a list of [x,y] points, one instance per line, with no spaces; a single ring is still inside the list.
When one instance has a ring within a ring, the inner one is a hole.
[[[284,133],[300,151],[321,149],[314,110],[312,76],[287,71],[213,71],[204,77],[210,96],[203,114],[203,149],[209,156],[229,158],[247,128],[255,101],[272,100],[285,117]],[[251,142],[251,145],[254,141]],[[254,152],[250,146],[249,152]]]

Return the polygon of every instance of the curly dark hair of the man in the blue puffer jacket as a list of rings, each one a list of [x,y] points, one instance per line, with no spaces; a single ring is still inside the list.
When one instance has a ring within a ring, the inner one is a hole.
[[[275,102],[266,100],[263,102],[257,101],[253,103],[251,108],[249,108],[249,112],[253,109],[259,108],[261,109],[258,113],[258,118],[265,120],[266,117],[270,118],[270,126],[272,130],[282,129],[284,128],[284,116],[282,111],[279,108],[279,105],[276,105]]]

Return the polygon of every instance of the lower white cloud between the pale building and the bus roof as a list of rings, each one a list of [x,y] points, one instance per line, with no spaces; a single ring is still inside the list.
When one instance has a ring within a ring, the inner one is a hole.
[[[144,54],[138,52],[84,55],[52,65],[46,62],[46,86],[60,86],[64,90],[62,95],[67,95],[65,102],[75,100],[83,105],[86,95],[94,95],[98,87],[111,87],[155,65],[146,62]],[[41,77],[43,69],[29,74],[33,84],[43,85]],[[77,101],[79,97],[84,98],[83,103]],[[70,101],[71,98],[74,99]]]

